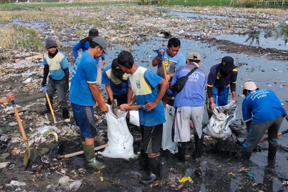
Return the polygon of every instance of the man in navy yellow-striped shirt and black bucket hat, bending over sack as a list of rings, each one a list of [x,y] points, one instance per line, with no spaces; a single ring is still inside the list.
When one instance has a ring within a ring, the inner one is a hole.
[[[209,107],[207,112],[209,119],[212,116],[213,108],[217,100],[218,106],[224,106],[228,103],[229,96],[229,84],[232,93],[232,100],[238,102],[236,98],[236,80],[237,80],[237,69],[235,69],[234,59],[229,56],[222,58],[220,64],[213,65],[210,69],[207,81],[207,95],[206,101],[209,98]],[[208,103],[208,102],[207,102]]]

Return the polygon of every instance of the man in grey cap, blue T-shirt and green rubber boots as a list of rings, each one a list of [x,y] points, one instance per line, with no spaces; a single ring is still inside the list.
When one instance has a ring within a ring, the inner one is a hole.
[[[72,72],[69,96],[75,121],[80,128],[80,140],[84,156],[88,165],[97,169],[102,169],[105,165],[96,160],[94,153],[96,124],[93,106],[95,101],[99,103],[101,111],[109,111],[96,87],[98,74],[95,58],[100,57],[103,52],[108,54],[106,41],[101,37],[95,37],[91,41],[89,49],[77,57]]]

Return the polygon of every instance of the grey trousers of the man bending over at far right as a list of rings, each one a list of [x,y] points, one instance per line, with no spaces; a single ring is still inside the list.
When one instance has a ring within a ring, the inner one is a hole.
[[[267,130],[269,145],[276,145],[278,142],[278,131],[283,119],[284,116],[280,116],[265,123],[251,124],[246,141],[243,143],[243,148],[248,152],[253,151]]]

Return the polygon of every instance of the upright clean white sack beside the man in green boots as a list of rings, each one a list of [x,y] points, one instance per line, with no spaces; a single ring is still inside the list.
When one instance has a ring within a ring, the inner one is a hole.
[[[108,147],[103,152],[98,152],[104,157],[129,159],[134,158],[133,136],[130,134],[126,124],[125,111],[119,111],[117,118],[108,105],[109,111],[106,113]]]

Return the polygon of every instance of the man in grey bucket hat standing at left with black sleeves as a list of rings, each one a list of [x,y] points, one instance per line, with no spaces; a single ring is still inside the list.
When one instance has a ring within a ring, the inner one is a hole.
[[[69,89],[69,63],[66,56],[58,51],[58,45],[55,37],[47,37],[45,39],[45,48],[48,50],[43,57],[44,74],[41,83],[44,86],[48,81],[48,96],[51,104],[53,105],[53,95],[57,91],[59,103],[62,107],[62,119],[69,119],[68,102],[66,93]],[[46,109],[40,111],[41,114],[49,113],[49,104],[46,101]]]

